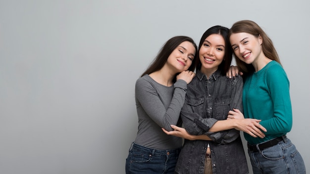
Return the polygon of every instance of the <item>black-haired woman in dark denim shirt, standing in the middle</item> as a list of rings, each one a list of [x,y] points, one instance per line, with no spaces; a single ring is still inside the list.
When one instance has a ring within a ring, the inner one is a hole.
[[[163,130],[186,138],[176,174],[248,174],[238,130],[264,136],[259,120],[231,119],[243,116],[243,81],[240,76],[234,79],[225,76],[232,60],[228,31],[226,27],[214,26],[202,36],[196,77],[187,87],[181,110],[185,130],[189,134],[208,135],[209,139],[189,140],[184,136],[184,130],[176,126],[172,126],[175,131]],[[233,114],[232,110],[235,111]]]

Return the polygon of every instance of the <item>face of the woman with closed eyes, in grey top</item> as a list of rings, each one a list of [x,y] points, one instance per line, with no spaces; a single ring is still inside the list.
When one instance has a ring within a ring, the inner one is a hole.
[[[178,73],[186,71],[192,65],[195,52],[196,49],[194,45],[185,41],[171,52],[166,63],[171,69],[175,69]]]

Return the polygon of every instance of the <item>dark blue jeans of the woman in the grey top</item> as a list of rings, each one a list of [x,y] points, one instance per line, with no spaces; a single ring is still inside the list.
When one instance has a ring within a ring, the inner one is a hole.
[[[157,150],[132,143],[126,174],[173,174],[180,149]]]

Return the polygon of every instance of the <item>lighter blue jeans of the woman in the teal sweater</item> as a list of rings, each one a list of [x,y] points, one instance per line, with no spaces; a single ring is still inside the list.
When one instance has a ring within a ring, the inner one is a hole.
[[[301,154],[287,137],[263,150],[248,150],[254,174],[306,174]]]

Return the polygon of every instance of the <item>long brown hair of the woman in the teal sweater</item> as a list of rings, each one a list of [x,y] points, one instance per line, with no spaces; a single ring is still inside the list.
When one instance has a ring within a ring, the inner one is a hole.
[[[272,41],[267,36],[267,34],[258,26],[257,23],[250,21],[250,20],[238,21],[238,22],[234,23],[233,26],[231,27],[228,37],[230,37],[234,33],[249,33],[249,34],[255,36],[256,38],[258,38],[260,36],[262,38],[262,44],[261,44],[262,52],[269,59],[275,60],[278,63],[280,63],[278,53],[277,53],[276,49],[274,48]],[[229,44],[229,45],[231,45],[231,44]],[[255,71],[252,64],[247,64],[247,63],[241,61],[236,56],[235,53],[234,53],[234,55],[235,55],[235,60],[236,60],[236,63],[237,63],[239,70],[242,71],[243,73],[245,73],[245,75]]]

